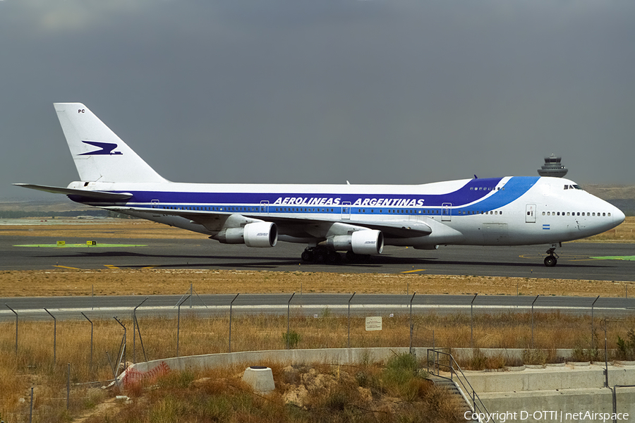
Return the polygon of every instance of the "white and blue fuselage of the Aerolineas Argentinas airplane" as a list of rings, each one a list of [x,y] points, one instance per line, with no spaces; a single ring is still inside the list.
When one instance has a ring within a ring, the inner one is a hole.
[[[68,188],[128,192],[126,202],[86,204],[214,235],[222,221],[205,215],[240,214],[284,221],[279,240],[315,244],[333,223],[430,227],[430,233],[385,235],[386,245],[553,244],[614,228],[624,214],[571,180],[506,177],[423,185],[267,185],[201,183],[71,183]],[[201,219],[177,216],[187,212]],[[315,223],[315,224],[312,224]]]

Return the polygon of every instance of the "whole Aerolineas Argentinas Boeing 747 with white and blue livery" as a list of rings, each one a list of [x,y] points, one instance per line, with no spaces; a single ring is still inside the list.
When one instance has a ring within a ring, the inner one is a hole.
[[[384,245],[550,245],[602,233],[624,214],[571,180],[506,176],[422,185],[175,183],[80,103],[55,110],[80,180],[55,192],[82,204],[209,235],[224,244],[308,245],[306,262],[379,255]]]

